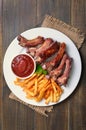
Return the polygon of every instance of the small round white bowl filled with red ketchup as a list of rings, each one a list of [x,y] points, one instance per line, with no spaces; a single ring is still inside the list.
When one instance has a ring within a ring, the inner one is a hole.
[[[27,78],[35,72],[36,65],[30,55],[19,54],[12,60],[11,68],[16,76]]]

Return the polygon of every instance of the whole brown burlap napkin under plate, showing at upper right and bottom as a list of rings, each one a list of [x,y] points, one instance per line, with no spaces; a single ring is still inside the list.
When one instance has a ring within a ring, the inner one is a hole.
[[[85,39],[85,34],[82,33],[79,29],[72,27],[72,26],[64,23],[63,21],[56,19],[49,15],[45,16],[45,19],[42,23],[42,27],[54,28],[54,29],[57,29],[58,31],[63,32],[75,43],[75,45],[77,46],[78,49],[81,47],[81,45]],[[27,105],[34,111],[36,111],[44,116],[48,116],[47,112],[51,112],[53,109],[53,106],[39,107],[39,106],[27,104],[27,103],[21,101],[20,99],[18,99],[13,93],[10,93],[9,98],[19,101],[20,103],[23,103],[24,105]]]

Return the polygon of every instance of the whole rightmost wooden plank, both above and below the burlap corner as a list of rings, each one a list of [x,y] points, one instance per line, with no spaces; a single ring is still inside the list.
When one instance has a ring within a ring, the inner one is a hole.
[[[86,32],[86,1],[85,0],[72,0],[71,3],[71,24]],[[71,98],[70,103],[70,119],[69,129],[85,130],[86,128],[86,41],[80,49],[82,58],[82,76],[77,86],[75,95]],[[73,114],[74,113],[74,114]],[[82,121],[83,120],[83,121]],[[77,124],[77,125],[76,125]]]

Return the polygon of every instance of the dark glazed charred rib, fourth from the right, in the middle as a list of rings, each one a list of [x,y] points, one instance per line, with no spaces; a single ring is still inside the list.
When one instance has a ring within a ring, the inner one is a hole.
[[[59,49],[59,43],[52,42],[47,48],[45,48],[44,51],[41,51],[39,53],[39,56],[37,57],[36,61],[38,63],[44,62],[47,58],[51,57],[53,54],[55,54]]]

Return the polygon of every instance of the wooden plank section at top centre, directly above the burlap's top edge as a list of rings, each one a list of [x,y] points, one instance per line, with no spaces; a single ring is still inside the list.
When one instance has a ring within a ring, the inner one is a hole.
[[[37,21],[42,21],[46,14],[70,23],[70,0],[37,1]]]

